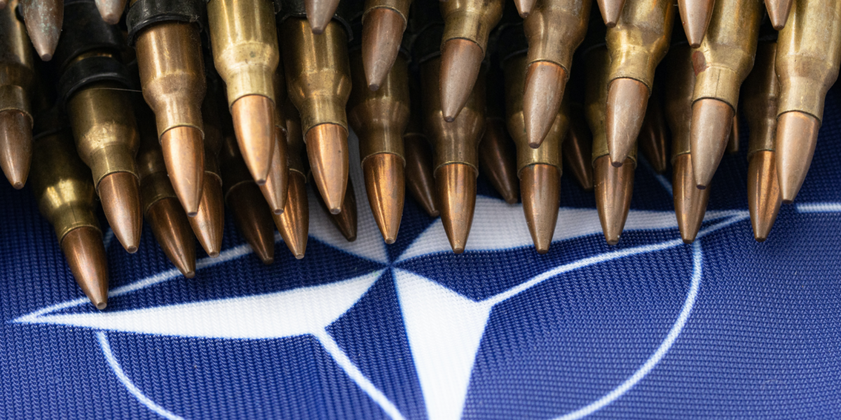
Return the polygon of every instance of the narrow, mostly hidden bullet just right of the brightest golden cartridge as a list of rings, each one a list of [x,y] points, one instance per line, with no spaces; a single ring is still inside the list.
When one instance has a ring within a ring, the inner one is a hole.
[[[283,213],[273,214],[272,218],[283,237],[283,243],[292,255],[300,260],[304,258],[307,250],[307,235],[309,235],[309,198],[306,190],[309,168],[307,168],[304,136],[301,134],[298,110],[288,98],[284,102],[283,110],[288,142],[289,187]]]

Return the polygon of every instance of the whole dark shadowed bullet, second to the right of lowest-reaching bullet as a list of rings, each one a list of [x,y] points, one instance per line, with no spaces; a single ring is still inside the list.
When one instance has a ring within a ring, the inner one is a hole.
[[[137,152],[137,173],[140,176],[140,198],[146,223],[161,245],[164,254],[188,279],[196,276],[196,245],[187,221],[187,213],[167,176],[161,144],[155,129],[155,114],[145,103],[135,101],[140,150]]]

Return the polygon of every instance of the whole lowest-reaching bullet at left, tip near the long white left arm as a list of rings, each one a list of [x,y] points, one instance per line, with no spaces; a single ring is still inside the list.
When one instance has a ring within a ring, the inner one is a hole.
[[[108,261],[96,216],[91,171],[79,160],[57,108],[40,114],[30,184],[40,212],[56,230],[73,277],[94,307],[108,305]]]

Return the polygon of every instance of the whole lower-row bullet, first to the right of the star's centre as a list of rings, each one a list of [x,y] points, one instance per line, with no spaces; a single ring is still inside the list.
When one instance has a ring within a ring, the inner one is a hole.
[[[447,0],[447,3],[456,0]],[[421,63],[424,127],[431,139],[433,174],[436,178],[442,223],[452,251],[464,252],[473,210],[476,205],[476,178],[479,176],[479,139],[484,129],[484,75],[473,86],[458,117],[447,123],[441,108],[441,57]]]

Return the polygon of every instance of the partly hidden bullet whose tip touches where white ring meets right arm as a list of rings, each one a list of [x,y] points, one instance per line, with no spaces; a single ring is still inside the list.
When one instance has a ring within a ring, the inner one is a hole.
[[[675,34],[677,35],[677,34]],[[676,36],[677,38],[677,36]],[[684,40],[674,42],[664,60],[664,104],[666,120],[672,132],[672,193],[674,214],[678,220],[680,238],[691,244],[701,229],[710,199],[710,189],[699,190],[692,173],[690,122],[692,92],[696,87],[692,68],[693,50]]]

